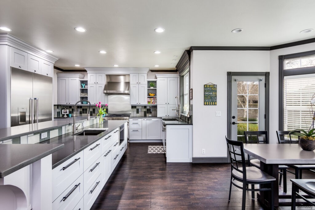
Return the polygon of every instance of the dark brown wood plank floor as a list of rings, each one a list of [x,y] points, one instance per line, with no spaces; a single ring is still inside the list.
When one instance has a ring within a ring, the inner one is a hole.
[[[241,209],[242,192],[232,186],[229,164],[166,163],[164,154],[147,154],[148,145],[128,149],[91,209]],[[314,173],[303,173],[303,178]],[[288,173],[288,192],[291,190]],[[281,192],[282,187],[279,187]],[[247,192],[246,208],[262,209]]]

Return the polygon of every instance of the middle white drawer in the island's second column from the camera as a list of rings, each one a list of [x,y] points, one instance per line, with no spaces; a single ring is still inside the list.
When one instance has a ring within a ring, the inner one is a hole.
[[[84,173],[83,173],[83,179],[84,179],[84,187],[83,192],[84,194],[89,189],[91,184],[97,179],[97,177],[101,173],[101,158],[99,157]]]

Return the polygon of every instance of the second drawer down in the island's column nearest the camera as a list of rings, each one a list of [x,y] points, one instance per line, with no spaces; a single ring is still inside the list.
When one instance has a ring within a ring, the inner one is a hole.
[[[53,202],[53,209],[73,209],[82,197],[83,174]]]

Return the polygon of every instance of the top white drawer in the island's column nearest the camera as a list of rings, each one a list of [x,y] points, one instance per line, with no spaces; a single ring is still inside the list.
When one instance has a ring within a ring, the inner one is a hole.
[[[83,151],[52,171],[53,201],[83,173]],[[83,183],[82,187],[83,187]]]

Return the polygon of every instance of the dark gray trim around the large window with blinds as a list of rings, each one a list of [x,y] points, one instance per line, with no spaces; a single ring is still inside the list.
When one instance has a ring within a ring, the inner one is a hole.
[[[283,127],[283,116],[284,116],[284,107],[283,107],[283,85],[284,85],[284,76],[293,76],[293,75],[302,75],[302,74],[314,74],[315,67],[305,67],[305,68],[296,68],[296,69],[284,69],[284,60],[291,58],[299,58],[309,55],[315,55],[315,50],[287,54],[287,55],[279,55],[279,130],[282,131]]]

